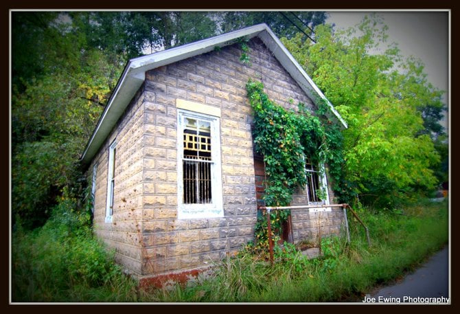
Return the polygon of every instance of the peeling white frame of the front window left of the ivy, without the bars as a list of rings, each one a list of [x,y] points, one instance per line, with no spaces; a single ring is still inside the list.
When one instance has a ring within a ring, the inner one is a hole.
[[[183,134],[185,117],[209,122],[211,127],[211,203],[183,203]],[[223,217],[220,118],[187,110],[177,110],[177,204],[179,219]]]

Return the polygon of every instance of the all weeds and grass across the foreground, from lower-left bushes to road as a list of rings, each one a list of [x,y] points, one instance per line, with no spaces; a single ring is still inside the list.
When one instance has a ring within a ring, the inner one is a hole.
[[[352,242],[323,238],[323,256],[308,260],[294,245],[266,256],[242,249],[210,277],[186,287],[138,291],[113,255],[81,227],[78,215],[56,215],[12,239],[14,302],[359,302],[378,284],[400,278],[448,242],[448,204],[422,202],[393,212],[356,209],[369,227],[349,218]],[[64,211],[65,212],[65,211]],[[62,218],[67,217],[67,218]],[[70,217],[70,218],[69,218]]]

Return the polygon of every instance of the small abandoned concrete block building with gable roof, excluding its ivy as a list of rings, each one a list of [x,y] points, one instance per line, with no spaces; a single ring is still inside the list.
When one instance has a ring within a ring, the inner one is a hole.
[[[242,40],[250,64],[240,60]],[[253,240],[265,176],[253,151],[249,78],[289,109],[302,102],[314,111],[325,100],[265,24],[126,65],[81,161],[95,233],[139,280],[194,273]],[[306,167],[313,179],[291,205],[319,201],[314,190],[327,177],[315,167]],[[293,210],[290,240],[314,238],[319,227],[336,234],[342,221],[341,208]]]

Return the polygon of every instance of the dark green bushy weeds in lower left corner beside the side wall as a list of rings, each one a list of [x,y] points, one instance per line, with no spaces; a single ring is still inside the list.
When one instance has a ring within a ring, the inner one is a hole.
[[[115,252],[93,235],[89,212],[65,192],[43,227],[12,234],[13,302],[125,302],[136,282],[115,264]]]

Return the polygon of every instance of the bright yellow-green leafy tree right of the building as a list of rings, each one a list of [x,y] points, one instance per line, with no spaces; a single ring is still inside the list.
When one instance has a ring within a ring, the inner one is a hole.
[[[343,185],[353,190],[343,188],[343,201],[368,196],[389,208],[415,189],[436,186],[439,154],[430,135],[439,132],[443,104],[421,63],[402,60],[397,45],[382,51],[386,31],[378,16],[366,16],[345,31],[319,25],[314,45],[301,35],[283,41],[349,124]]]

